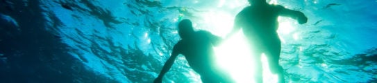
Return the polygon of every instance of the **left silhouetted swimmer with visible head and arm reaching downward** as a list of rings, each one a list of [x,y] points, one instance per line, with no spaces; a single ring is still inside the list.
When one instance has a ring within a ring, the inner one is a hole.
[[[184,55],[190,67],[201,75],[203,83],[232,82],[231,77],[215,66],[212,47],[219,44],[220,37],[203,30],[194,31],[189,19],[183,19],[178,24],[178,34],[182,39],[174,46],[160,75],[154,80],[155,83],[162,82],[162,77],[169,71],[179,54]]]

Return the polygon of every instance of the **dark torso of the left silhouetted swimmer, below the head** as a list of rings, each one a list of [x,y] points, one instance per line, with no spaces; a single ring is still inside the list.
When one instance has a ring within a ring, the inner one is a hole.
[[[185,56],[192,69],[203,74],[213,65],[213,50],[210,36],[206,31],[197,31],[192,37],[180,40],[174,49]]]

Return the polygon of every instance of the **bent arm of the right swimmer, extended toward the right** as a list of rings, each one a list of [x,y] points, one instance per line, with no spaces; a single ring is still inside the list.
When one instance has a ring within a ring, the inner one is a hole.
[[[296,19],[299,24],[305,24],[308,21],[308,17],[303,15],[303,12],[296,11],[296,10],[290,10],[287,8],[284,8],[283,6],[280,6],[280,15],[283,17],[292,17],[292,19]]]

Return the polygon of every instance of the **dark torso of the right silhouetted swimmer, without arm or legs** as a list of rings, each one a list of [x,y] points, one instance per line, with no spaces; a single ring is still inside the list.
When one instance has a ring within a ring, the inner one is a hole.
[[[266,45],[271,44],[280,45],[276,30],[278,29],[278,12],[281,9],[283,6],[248,6],[236,16],[235,24],[243,28],[244,35],[258,48],[268,47]]]

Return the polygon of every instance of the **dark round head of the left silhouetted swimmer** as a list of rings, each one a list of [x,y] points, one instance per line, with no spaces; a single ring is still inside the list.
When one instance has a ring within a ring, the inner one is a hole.
[[[194,33],[194,28],[192,27],[192,22],[190,19],[183,19],[178,24],[178,34],[182,39],[190,37]]]

